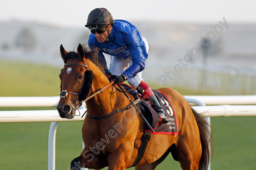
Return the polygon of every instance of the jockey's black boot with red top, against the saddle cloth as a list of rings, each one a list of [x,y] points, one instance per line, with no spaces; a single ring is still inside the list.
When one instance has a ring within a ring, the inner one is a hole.
[[[146,84],[144,81],[141,81],[141,83],[139,84],[139,87],[144,90],[144,92],[141,94],[141,96],[143,97],[143,100],[146,100],[146,101],[151,100],[152,101],[151,107],[153,107],[156,113],[162,117],[161,123],[167,124],[168,118],[166,117],[163,108],[160,106],[158,100],[155,97],[155,94],[153,93],[151,88],[148,86],[148,84]]]

